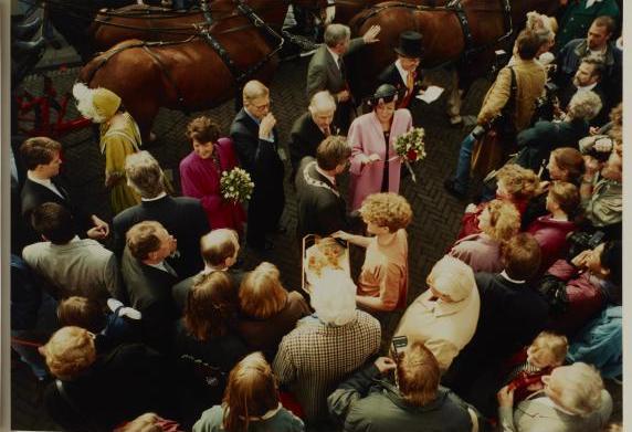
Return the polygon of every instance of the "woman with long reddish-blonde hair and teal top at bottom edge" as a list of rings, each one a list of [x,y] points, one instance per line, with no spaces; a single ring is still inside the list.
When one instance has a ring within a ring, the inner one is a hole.
[[[252,425],[252,428],[251,428]],[[261,352],[253,352],[231,370],[221,405],[204,411],[193,432],[266,430],[302,432],[303,421],[278,401],[276,379]]]

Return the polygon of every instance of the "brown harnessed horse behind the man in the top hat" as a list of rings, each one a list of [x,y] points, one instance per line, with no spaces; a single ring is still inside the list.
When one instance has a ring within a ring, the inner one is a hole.
[[[528,11],[554,14],[559,6],[550,0],[508,0],[513,29],[508,29],[504,0],[461,0],[470,31],[471,49],[481,49],[467,56],[465,36],[459,15],[452,7],[424,8],[404,2],[382,2],[358,13],[350,22],[354,34],[364,34],[371,25],[379,24],[378,43],[371,44],[350,56],[348,61],[349,76],[354,94],[361,97],[375,89],[379,73],[396,60],[393,48],[398,44],[399,34],[405,30],[415,30],[423,34],[423,67],[457,64],[459,80],[462,87],[467,88],[475,77],[484,76],[491,67],[494,50],[509,50],[508,43],[499,40],[513,30],[514,35],[526,22]],[[452,1],[451,3],[455,3]],[[510,38],[505,38],[509,42]],[[455,77],[456,80],[456,77]]]

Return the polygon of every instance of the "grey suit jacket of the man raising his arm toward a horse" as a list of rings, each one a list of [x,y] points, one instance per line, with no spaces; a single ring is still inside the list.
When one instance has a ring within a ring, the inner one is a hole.
[[[362,38],[352,39],[349,42],[349,49],[346,54],[352,53],[364,44],[365,41]],[[347,82],[343,80],[340,70],[327,50],[327,45],[320,45],[312,56],[309,66],[307,66],[307,99],[312,99],[314,94],[324,89],[329,91],[331,94],[336,94],[346,88]]]

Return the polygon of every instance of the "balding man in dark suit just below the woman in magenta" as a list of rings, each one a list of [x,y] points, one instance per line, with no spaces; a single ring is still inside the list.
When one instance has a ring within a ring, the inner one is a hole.
[[[213,230],[200,239],[200,253],[204,260],[204,268],[194,276],[173,285],[171,295],[176,303],[176,309],[183,314],[187,306],[189,292],[198,281],[212,272],[227,272],[235,292],[241,285],[244,273],[234,268],[239,255],[239,235],[236,231],[228,228]]]

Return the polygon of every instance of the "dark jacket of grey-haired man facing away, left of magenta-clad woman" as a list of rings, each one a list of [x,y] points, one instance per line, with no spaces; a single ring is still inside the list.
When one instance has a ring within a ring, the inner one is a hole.
[[[113,221],[115,253],[123,254],[125,234],[138,222],[158,221],[178,241],[180,256],[169,259],[179,280],[191,276],[204,266],[200,255],[200,238],[210,231],[200,200],[189,197],[162,197],[125,209]]]

